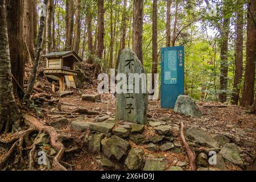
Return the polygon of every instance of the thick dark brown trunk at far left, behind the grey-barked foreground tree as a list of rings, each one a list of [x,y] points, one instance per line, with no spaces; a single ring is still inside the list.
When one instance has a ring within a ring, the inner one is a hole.
[[[24,45],[24,27],[23,27],[23,0],[8,0],[7,5],[7,28],[9,38],[11,73],[13,74],[14,94],[22,98],[23,93],[20,86],[23,86],[24,77],[24,54],[26,46]],[[16,83],[16,81],[18,84]]]

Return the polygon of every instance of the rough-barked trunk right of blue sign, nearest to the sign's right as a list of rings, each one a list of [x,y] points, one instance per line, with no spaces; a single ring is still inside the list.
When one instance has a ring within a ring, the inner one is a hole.
[[[220,102],[226,102],[226,90],[228,89],[228,39],[230,18],[224,18],[221,31],[221,63],[220,63]]]

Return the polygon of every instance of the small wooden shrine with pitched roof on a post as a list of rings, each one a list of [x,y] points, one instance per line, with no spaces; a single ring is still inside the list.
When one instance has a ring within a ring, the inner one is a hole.
[[[55,85],[59,84],[59,90],[64,91],[67,88],[76,88],[74,76],[77,75],[76,64],[82,61],[81,57],[74,51],[52,52],[42,57],[47,58],[46,75],[59,77],[59,83],[52,82],[52,91],[55,92]]]

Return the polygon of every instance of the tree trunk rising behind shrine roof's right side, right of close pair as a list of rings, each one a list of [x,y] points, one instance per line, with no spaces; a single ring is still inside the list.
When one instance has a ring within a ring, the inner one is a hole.
[[[73,51],[79,53],[80,35],[81,35],[81,0],[76,0],[76,22]]]

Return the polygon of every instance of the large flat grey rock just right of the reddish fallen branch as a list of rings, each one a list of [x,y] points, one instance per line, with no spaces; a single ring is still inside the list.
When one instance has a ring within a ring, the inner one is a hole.
[[[187,138],[195,140],[199,142],[202,146],[210,147],[210,148],[218,148],[220,144],[212,138],[212,136],[200,129],[199,127],[191,127],[186,131]]]

